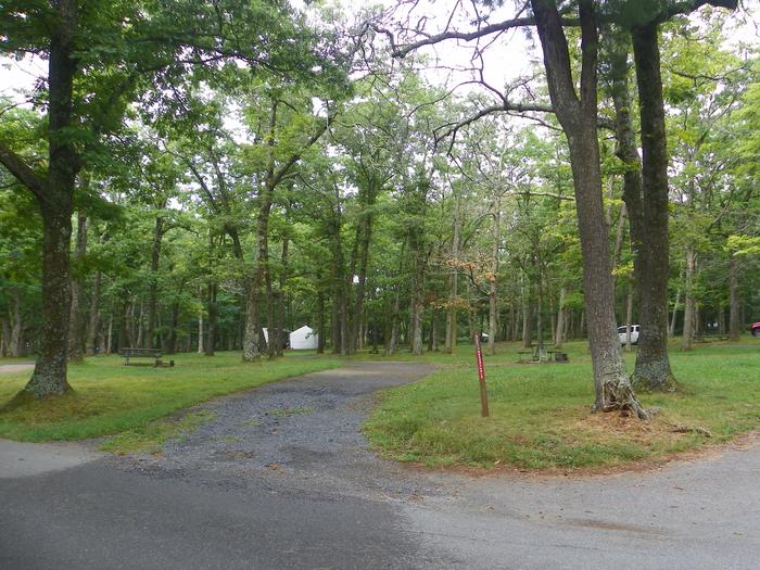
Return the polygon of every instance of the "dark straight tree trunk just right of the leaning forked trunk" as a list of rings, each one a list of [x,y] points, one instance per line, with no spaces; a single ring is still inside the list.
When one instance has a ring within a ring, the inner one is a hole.
[[[668,148],[658,25],[636,28],[632,37],[643,151],[643,194],[641,201],[633,201],[641,207],[631,216],[637,219],[632,237],[641,324],[633,382],[649,390],[674,391],[668,358]]]

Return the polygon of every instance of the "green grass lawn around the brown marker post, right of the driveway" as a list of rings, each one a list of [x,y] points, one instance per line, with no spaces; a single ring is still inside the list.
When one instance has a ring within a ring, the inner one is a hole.
[[[646,407],[661,408],[648,422],[590,414],[593,380],[585,343],[566,346],[567,365],[518,365],[518,350],[501,345],[485,357],[487,419],[480,417],[472,346],[426,355],[444,366],[381,395],[365,425],[372,446],[430,467],[568,470],[658,461],[760,426],[760,343],[753,339],[742,345],[699,344],[688,353],[674,344],[671,362],[681,392],[641,394]],[[626,356],[631,369],[634,358]],[[712,438],[673,431],[684,426],[705,428]]]

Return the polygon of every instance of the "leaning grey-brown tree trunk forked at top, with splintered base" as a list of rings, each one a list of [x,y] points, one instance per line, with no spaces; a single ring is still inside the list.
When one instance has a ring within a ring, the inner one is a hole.
[[[549,97],[570,148],[583,256],[588,343],[594,369],[594,409],[631,409],[638,417],[646,418],[646,411],[636,400],[625,372],[615,319],[615,284],[596,136],[598,35],[594,3],[592,0],[581,0],[579,4],[582,55],[580,99],[575,93],[568,45],[556,3],[547,0],[532,0],[531,3],[544,52]]]

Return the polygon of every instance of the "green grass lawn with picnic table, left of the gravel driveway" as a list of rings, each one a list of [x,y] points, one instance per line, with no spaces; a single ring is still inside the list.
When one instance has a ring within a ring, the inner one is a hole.
[[[240,353],[218,353],[214,357],[177,354],[173,358],[174,368],[124,366],[124,359],[115,355],[71,365],[68,379],[74,393],[0,411],[0,438],[38,442],[126,432],[132,439],[148,434],[160,441],[172,436],[178,425],[151,425],[153,420],[215,396],[341,364],[330,357],[289,355],[271,363],[264,359],[244,365]],[[0,407],[24,387],[29,373],[0,375]],[[192,418],[185,423],[192,425]],[[129,448],[131,443],[122,440],[122,447]]]

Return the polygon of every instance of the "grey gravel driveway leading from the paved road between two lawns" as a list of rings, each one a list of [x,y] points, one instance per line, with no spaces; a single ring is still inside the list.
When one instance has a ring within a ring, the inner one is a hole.
[[[376,392],[422,378],[433,367],[355,363],[201,406],[214,419],[157,456],[115,459],[161,477],[205,477],[236,485],[315,489],[341,496],[408,498],[434,489],[367,449],[360,425]]]

